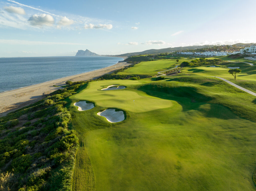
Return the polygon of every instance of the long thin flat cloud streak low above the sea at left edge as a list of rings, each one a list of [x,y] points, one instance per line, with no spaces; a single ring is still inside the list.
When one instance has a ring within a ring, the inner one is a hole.
[[[0,43],[3,44],[17,44],[17,45],[88,45],[81,43],[69,43],[69,42],[42,42],[42,41],[25,41],[25,40],[5,40],[0,39]]]

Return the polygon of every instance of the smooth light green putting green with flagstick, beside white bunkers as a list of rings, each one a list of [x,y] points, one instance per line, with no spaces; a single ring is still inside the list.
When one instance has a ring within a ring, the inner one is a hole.
[[[102,107],[122,108],[132,112],[145,112],[159,108],[172,106],[172,101],[147,95],[136,89],[101,91],[102,86],[109,86],[113,82],[124,86],[141,84],[143,81],[134,80],[104,80],[90,82],[88,87],[78,94],[71,96],[72,99],[92,100]],[[151,104],[148,104],[151,103]]]

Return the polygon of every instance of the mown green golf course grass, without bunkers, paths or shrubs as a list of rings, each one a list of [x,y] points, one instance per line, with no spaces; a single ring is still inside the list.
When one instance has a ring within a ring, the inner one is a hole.
[[[256,92],[256,66],[183,67],[156,81],[194,59],[140,62],[117,74],[153,77],[92,81],[67,98],[80,142],[73,190],[256,190],[256,97],[215,78]],[[240,67],[237,80],[227,67]],[[125,88],[102,90],[112,85]],[[95,107],[78,111],[84,100]],[[97,115],[108,109],[124,120]]]

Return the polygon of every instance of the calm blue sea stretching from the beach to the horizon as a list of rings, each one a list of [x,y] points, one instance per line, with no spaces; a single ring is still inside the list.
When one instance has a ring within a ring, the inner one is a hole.
[[[107,56],[0,58],[0,92],[105,68],[121,60]]]

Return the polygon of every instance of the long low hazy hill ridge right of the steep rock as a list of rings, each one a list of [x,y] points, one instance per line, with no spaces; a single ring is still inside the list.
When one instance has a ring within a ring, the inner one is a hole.
[[[202,46],[180,46],[180,47],[174,47],[174,48],[162,48],[162,49],[150,49],[150,50],[144,50],[142,52],[133,52],[133,53],[126,53],[126,54],[120,54],[115,56],[135,56],[139,54],[158,54],[158,53],[165,53],[165,52],[172,52],[177,50],[189,50],[189,49],[198,49],[198,48],[208,48],[213,47],[215,45],[202,45]]]

